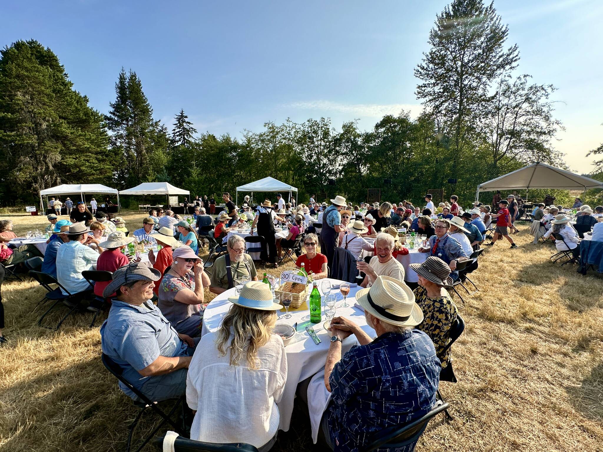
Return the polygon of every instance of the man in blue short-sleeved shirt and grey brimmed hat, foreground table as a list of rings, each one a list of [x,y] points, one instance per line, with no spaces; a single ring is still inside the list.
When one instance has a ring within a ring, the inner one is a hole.
[[[103,353],[118,363],[134,388],[153,401],[185,393],[186,372],[195,345],[191,337],[178,334],[151,302],[154,281],[159,278],[157,270],[140,262],[113,272],[103,297],[117,295],[101,327]],[[138,400],[122,383],[119,388]]]

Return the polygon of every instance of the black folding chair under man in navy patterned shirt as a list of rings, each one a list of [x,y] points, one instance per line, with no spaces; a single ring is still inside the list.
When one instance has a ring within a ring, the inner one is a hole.
[[[417,419],[410,424],[393,425],[375,433],[365,447],[359,448],[360,452],[371,452],[378,448],[384,450],[388,448],[401,448],[418,441],[419,437],[425,432],[427,424],[432,418],[447,410],[449,404],[437,400],[434,407],[425,416]]]

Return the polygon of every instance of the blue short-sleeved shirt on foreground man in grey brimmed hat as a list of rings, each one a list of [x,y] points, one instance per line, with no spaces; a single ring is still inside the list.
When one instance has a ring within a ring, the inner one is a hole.
[[[152,379],[162,379],[164,375],[143,377],[139,374],[159,356],[191,356],[194,351],[178,337],[171,323],[150,300],[134,306],[113,299],[109,316],[101,326],[101,347],[104,354],[124,369],[124,378],[136,389]],[[134,396],[121,382],[119,388],[126,395]]]

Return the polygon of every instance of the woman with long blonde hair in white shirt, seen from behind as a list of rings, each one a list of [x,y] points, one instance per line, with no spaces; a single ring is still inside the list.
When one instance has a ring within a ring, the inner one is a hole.
[[[273,331],[282,306],[262,281],[248,282],[229,301],[221,326],[201,337],[189,365],[191,439],[247,442],[265,452],[276,442],[287,378],[285,345]]]

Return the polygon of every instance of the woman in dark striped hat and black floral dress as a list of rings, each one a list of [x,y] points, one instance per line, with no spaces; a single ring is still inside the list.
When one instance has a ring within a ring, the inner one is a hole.
[[[411,263],[410,268],[418,275],[418,287],[413,292],[424,316],[417,329],[429,335],[442,367],[447,368],[450,362],[450,348],[446,352],[444,348],[449,339],[448,330],[456,319],[456,305],[444,288],[452,286],[453,283],[450,267],[443,260],[429,256],[423,263]],[[452,368],[448,371],[450,370]]]

